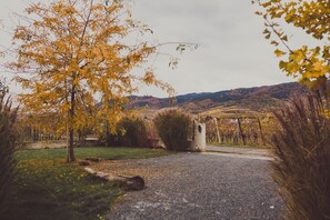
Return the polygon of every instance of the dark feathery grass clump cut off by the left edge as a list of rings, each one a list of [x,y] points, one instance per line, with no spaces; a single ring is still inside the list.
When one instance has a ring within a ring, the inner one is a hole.
[[[6,92],[0,82],[0,219],[8,208],[8,196],[11,191],[16,167],[13,126],[17,109],[11,109],[10,99],[4,98]]]

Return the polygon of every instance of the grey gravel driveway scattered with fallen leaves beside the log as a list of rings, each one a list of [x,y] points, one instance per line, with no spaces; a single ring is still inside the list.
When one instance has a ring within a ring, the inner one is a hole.
[[[94,169],[140,174],[147,189],[128,192],[107,219],[281,219],[269,161],[219,153],[107,161]]]

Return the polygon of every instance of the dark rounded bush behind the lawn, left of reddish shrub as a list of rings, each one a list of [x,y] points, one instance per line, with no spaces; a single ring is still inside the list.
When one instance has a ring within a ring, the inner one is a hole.
[[[139,117],[124,117],[117,124],[120,146],[148,147],[146,121]]]

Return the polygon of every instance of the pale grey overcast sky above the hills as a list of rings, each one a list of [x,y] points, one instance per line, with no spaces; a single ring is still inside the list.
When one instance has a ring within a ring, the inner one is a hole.
[[[14,20],[10,13],[21,12],[27,2],[0,1],[6,26]],[[199,44],[198,50],[180,56],[176,70],[168,68],[169,58],[157,60],[158,78],[183,94],[293,81],[278,69],[273,48],[262,36],[263,21],[254,10],[250,0],[136,0],[133,16],[149,24],[152,38],[160,42]],[[10,44],[7,32],[0,31],[0,44]],[[167,50],[176,54],[174,47]],[[156,88],[142,88],[141,94],[167,96]]]

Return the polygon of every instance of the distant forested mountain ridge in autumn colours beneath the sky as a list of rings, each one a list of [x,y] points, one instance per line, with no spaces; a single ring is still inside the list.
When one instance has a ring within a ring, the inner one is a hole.
[[[232,89],[218,92],[201,92],[181,94],[176,98],[176,103],[168,98],[156,97],[130,97],[128,108],[148,107],[162,109],[168,107],[180,107],[192,113],[203,112],[217,107],[237,107],[252,111],[279,106],[292,96],[301,96],[307,88],[297,82],[281,83],[276,86],[263,86],[253,88]]]

